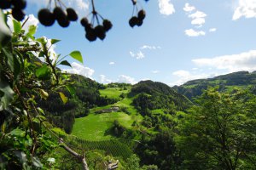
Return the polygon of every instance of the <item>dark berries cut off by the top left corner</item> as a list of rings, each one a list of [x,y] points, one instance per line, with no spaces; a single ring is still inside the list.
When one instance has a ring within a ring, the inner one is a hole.
[[[15,20],[23,20],[25,17],[23,9],[26,8],[26,0],[0,0],[0,8],[11,8]]]

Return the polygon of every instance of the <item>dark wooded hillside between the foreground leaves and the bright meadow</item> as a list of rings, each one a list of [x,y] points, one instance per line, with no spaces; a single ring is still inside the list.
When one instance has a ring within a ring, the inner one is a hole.
[[[102,96],[99,90],[105,87],[90,78],[71,75],[69,79],[75,95],[69,94],[67,88],[61,88],[61,92],[68,98],[66,104],[63,104],[59,94],[55,93],[49,93],[47,100],[38,99],[38,106],[44,109],[49,121],[53,122],[55,126],[63,128],[66,133],[72,132],[74,119],[87,116],[91,108],[116,102],[116,99]]]

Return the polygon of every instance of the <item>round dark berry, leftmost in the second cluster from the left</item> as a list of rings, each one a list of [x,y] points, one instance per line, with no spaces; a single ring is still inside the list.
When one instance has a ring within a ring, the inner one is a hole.
[[[38,12],[38,20],[44,26],[52,26],[55,23],[55,15],[48,8],[42,8]]]

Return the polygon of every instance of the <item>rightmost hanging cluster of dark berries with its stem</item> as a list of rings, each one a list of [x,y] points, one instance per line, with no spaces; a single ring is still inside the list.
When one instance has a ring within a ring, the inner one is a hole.
[[[143,20],[146,17],[146,11],[144,11],[143,9],[139,11],[137,10],[137,15],[134,15],[134,8],[137,9],[137,0],[132,0],[132,4],[133,4],[133,12],[132,12],[132,17],[129,20],[129,25],[131,26],[131,28],[133,28],[134,26],[142,26]]]

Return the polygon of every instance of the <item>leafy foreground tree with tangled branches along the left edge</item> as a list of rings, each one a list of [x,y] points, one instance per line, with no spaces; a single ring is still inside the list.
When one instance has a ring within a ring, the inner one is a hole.
[[[6,25],[8,15],[0,10],[1,167],[43,167],[47,162],[43,157],[57,147],[57,140],[51,137],[58,137],[50,130],[52,125],[38,107],[37,99],[47,99],[49,93],[55,93],[67,103],[61,88],[67,88],[72,96],[74,89],[69,76],[57,66],[71,65],[65,57],[49,52],[50,46],[59,40],[34,37],[36,26],[30,26],[26,32],[22,29],[24,24],[12,20],[11,34]],[[83,62],[79,51],[68,55]]]

